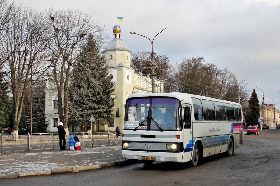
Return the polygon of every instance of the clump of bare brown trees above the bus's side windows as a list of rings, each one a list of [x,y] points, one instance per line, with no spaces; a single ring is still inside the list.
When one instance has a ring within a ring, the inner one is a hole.
[[[237,79],[229,69],[220,70],[215,64],[205,63],[204,58],[182,58],[177,64],[175,89],[180,92],[209,96],[238,102]],[[240,93],[246,98],[248,90],[241,84]]]

